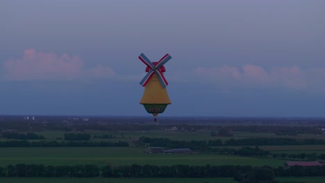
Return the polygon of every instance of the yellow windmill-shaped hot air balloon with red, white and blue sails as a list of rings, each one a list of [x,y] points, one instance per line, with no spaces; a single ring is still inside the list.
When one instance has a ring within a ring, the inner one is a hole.
[[[148,72],[140,82],[140,85],[144,87],[140,104],[144,106],[147,112],[155,116],[155,122],[157,122],[156,116],[163,113],[167,105],[172,103],[166,89],[168,82],[163,74],[166,71],[163,64],[171,58],[172,56],[166,54],[158,62],[151,62],[143,53],[139,56],[139,59],[147,65],[146,72]]]

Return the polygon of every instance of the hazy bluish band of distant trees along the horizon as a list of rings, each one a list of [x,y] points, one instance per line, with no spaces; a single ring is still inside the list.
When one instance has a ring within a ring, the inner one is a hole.
[[[18,131],[31,130],[105,130],[105,131],[142,131],[160,130],[176,126],[178,129],[189,132],[206,129],[219,131],[222,125],[234,132],[273,132],[278,134],[320,134],[324,128],[324,119],[269,119],[269,118],[219,118],[219,119],[194,119],[172,118],[164,119],[161,125],[151,125],[147,118],[133,117],[97,117],[92,116],[90,121],[68,119],[67,116],[37,116],[37,121],[23,120],[23,116],[1,116],[3,121],[0,129],[15,129]],[[39,123],[46,121],[45,123]],[[150,125],[146,125],[149,123]],[[184,124],[187,123],[187,124]],[[211,125],[213,124],[213,125]],[[220,124],[220,125],[219,125]],[[242,125],[244,124],[244,125]],[[251,124],[251,125],[248,125]],[[272,125],[267,125],[272,124]]]

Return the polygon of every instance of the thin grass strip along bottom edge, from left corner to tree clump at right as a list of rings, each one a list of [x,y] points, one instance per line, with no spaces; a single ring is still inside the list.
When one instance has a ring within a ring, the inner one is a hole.
[[[7,178],[0,177],[0,182],[6,183],[235,183],[233,178]]]

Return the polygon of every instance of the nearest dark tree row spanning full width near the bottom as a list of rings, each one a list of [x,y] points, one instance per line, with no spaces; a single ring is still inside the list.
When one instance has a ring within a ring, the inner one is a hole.
[[[235,180],[273,180],[276,176],[325,176],[325,166],[102,166],[86,164],[76,166],[44,166],[42,164],[16,164],[0,167],[0,177],[234,177]]]

